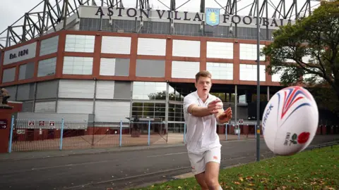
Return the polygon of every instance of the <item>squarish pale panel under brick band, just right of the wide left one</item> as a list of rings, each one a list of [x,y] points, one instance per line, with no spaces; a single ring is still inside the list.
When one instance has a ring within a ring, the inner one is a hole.
[[[96,99],[113,99],[114,97],[114,81],[97,80]]]

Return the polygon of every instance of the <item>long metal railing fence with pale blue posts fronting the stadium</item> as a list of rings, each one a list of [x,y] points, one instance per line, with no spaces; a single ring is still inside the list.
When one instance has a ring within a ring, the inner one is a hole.
[[[172,123],[173,124],[173,123]],[[262,134],[260,127],[259,132]],[[11,121],[8,152],[109,148],[184,143],[186,124],[164,122]],[[218,125],[220,141],[256,138],[256,125]],[[339,134],[339,126],[320,125],[316,134]],[[172,137],[173,136],[173,137]]]

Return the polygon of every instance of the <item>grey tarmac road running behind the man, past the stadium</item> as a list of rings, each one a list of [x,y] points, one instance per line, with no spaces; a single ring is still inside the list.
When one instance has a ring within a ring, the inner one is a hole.
[[[338,140],[316,136],[312,145]],[[273,156],[261,139],[261,159]],[[222,142],[221,167],[256,160],[256,141]],[[0,161],[0,189],[128,189],[191,172],[184,146]]]

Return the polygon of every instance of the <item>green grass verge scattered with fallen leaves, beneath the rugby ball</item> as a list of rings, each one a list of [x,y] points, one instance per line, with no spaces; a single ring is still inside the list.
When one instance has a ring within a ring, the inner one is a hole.
[[[220,170],[222,189],[338,189],[339,146],[275,157],[258,163]],[[146,189],[200,189],[191,177]]]

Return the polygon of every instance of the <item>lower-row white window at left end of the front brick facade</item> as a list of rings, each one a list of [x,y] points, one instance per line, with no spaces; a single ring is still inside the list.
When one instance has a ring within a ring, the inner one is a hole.
[[[93,58],[64,57],[63,74],[66,75],[92,75]]]

